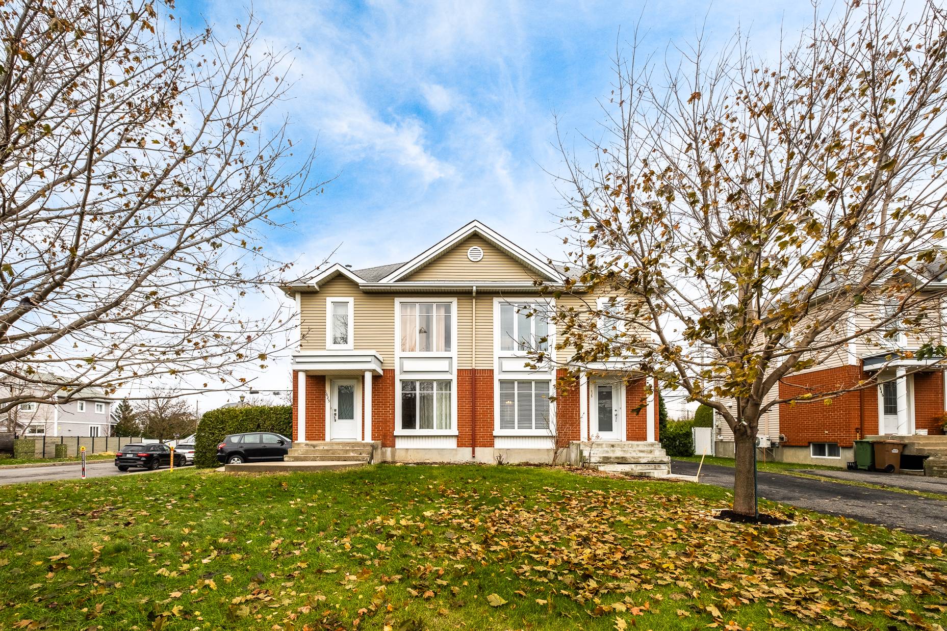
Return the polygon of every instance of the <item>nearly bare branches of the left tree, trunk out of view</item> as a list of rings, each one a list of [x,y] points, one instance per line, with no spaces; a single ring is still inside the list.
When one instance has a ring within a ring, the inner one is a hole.
[[[288,269],[259,237],[319,185],[267,116],[289,59],[252,16],[223,41],[171,6],[0,11],[0,379],[31,386],[0,412],[146,377],[239,387],[279,347],[287,319],[245,309]]]

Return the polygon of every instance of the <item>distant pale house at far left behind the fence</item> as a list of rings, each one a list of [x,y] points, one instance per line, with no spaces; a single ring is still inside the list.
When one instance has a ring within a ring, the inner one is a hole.
[[[23,393],[28,387],[23,384],[14,387]],[[110,397],[98,388],[87,388],[73,393],[67,401],[64,393],[56,394],[44,402],[21,403],[9,412],[9,418],[16,426],[16,433],[27,438],[30,436],[111,436],[112,418]]]

